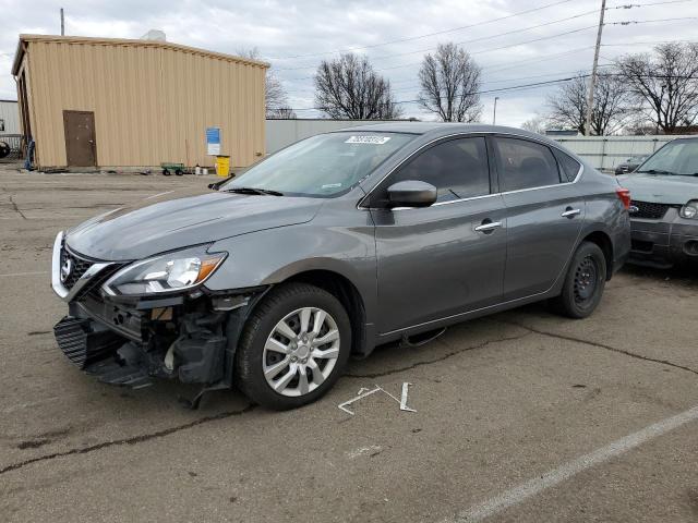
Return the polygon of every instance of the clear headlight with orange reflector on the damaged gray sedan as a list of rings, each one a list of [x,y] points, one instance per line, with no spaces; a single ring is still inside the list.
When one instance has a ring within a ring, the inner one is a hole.
[[[136,296],[183,291],[203,283],[228,253],[206,253],[206,245],[135,262],[104,284],[111,295]]]

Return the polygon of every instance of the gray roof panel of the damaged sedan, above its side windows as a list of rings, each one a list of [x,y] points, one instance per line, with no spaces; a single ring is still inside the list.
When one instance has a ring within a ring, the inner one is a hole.
[[[522,129],[507,127],[504,125],[485,125],[481,123],[450,123],[450,122],[387,122],[387,123],[374,123],[366,125],[358,125],[354,127],[344,127],[333,131],[335,133],[340,132],[374,132],[374,133],[409,133],[419,134],[428,137],[438,138],[440,136],[447,136],[456,133],[501,133],[501,134],[514,134],[539,142],[545,142],[547,144],[559,147],[555,141],[543,136],[542,134],[531,133],[530,131],[524,131]]]

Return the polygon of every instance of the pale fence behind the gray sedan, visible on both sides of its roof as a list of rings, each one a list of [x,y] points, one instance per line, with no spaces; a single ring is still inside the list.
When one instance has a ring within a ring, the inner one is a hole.
[[[384,123],[376,120],[267,120],[266,153],[320,133],[342,127]],[[651,155],[681,136],[549,136],[581,156],[597,169],[610,171],[631,156]]]

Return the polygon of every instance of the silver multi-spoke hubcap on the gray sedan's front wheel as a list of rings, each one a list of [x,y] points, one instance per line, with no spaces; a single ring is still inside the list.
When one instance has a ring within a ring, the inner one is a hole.
[[[284,317],[264,344],[266,382],[281,396],[304,396],[329,377],[339,356],[337,323],[322,308],[303,307]]]

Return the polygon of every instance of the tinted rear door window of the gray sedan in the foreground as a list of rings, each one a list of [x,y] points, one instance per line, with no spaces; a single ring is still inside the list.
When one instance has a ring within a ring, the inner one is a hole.
[[[557,161],[545,145],[520,138],[495,137],[494,150],[503,192],[561,183]]]

